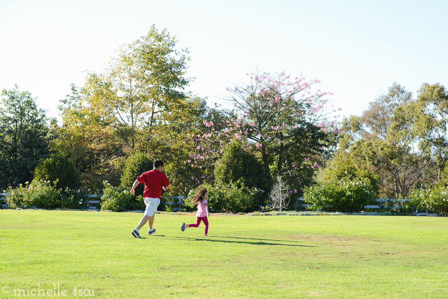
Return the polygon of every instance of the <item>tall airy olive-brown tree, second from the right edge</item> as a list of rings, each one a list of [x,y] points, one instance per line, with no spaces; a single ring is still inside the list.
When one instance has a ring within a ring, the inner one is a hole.
[[[343,121],[340,149],[359,169],[376,174],[380,195],[406,198],[421,179],[416,114],[409,113],[412,94],[394,83],[386,95],[369,104],[362,116]]]

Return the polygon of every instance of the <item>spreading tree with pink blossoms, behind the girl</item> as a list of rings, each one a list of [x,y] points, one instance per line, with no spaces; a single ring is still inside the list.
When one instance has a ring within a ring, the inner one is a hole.
[[[229,142],[240,139],[262,160],[266,175],[287,174],[294,178],[292,187],[300,186],[334,149],[331,135],[337,130],[330,114],[337,109],[328,107],[327,98],[332,94],[316,89],[318,80],[284,72],[246,75],[249,84],[227,88],[233,110],[208,111],[204,132],[191,140],[195,151],[189,162],[213,165]]]

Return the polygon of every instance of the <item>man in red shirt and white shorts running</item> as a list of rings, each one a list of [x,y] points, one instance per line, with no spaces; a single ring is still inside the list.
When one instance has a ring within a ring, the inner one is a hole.
[[[130,190],[131,194],[135,194],[135,187],[138,184],[144,183],[145,190],[143,191],[143,200],[146,204],[146,209],[143,217],[140,219],[140,223],[138,223],[137,227],[132,231],[132,235],[136,238],[141,238],[139,235],[139,229],[145,225],[146,221],[149,224],[148,235],[152,235],[155,233],[155,228],[152,228],[152,224],[154,223],[155,211],[157,210],[157,206],[160,203],[160,196],[162,195],[162,189],[168,190],[168,180],[166,178],[166,174],[162,172],[163,170],[163,162],[162,160],[154,161],[154,169],[142,173],[137,177],[132,188]]]

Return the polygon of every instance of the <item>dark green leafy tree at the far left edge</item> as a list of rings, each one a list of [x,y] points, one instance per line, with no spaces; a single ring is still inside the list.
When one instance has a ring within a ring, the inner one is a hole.
[[[17,85],[3,90],[0,105],[0,186],[15,187],[33,179],[40,159],[49,155],[47,118],[29,92]]]

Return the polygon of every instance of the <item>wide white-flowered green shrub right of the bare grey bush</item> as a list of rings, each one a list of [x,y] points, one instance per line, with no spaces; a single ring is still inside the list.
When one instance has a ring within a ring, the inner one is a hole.
[[[375,195],[367,178],[353,178],[307,187],[304,201],[310,210],[359,212],[365,204],[373,202]]]

